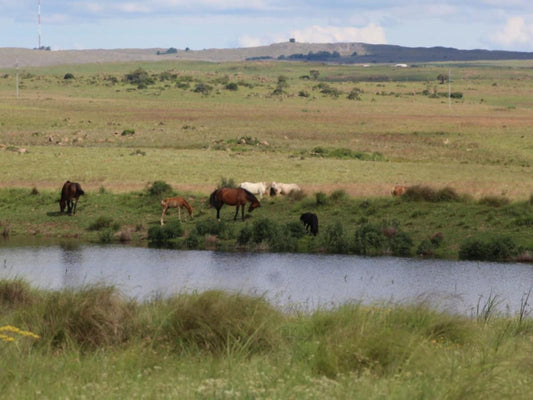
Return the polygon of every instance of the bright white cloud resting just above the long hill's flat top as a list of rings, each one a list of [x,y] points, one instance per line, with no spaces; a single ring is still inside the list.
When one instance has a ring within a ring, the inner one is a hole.
[[[293,30],[290,36],[299,42],[310,43],[387,43],[385,31],[375,24],[370,24],[364,28],[313,25],[304,29]]]

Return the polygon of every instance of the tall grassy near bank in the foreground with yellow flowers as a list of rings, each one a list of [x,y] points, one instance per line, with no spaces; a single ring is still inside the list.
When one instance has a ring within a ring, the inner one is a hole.
[[[530,397],[525,315],[412,306],[281,313],[205,292],[135,303],[114,289],[0,281],[2,397]]]

